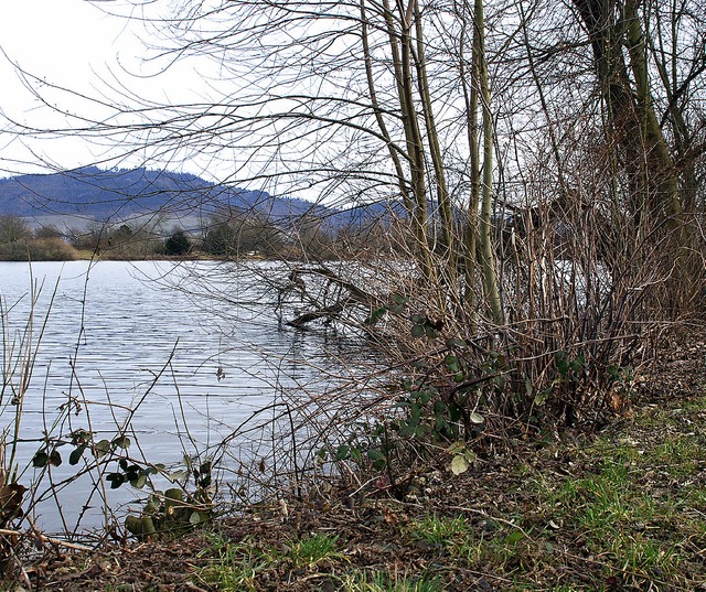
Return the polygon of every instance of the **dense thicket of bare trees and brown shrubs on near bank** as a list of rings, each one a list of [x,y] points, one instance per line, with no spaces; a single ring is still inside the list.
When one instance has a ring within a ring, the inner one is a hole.
[[[227,132],[191,141],[257,138],[252,158],[284,172],[255,177],[387,204],[371,257],[341,243],[258,279],[292,326],[354,329],[378,354],[275,406],[263,439],[288,482],[372,467],[402,495],[436,454],[461,471],[513,439],[596,430],[667,329],[703,315],[694,3],[186,4],[165,43],[266,80]],[[278,32],[296,41],[264,41]]]

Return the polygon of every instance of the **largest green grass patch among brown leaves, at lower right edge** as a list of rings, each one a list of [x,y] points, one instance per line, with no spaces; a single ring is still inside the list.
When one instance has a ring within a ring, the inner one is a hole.
[[[705,409],[706,398],[691,401],[692,415]],[[693,478],[706,466],[703,438],[654,432],[654,420],[635,419],[632,435],[618,443],[606,437],[575,450],[589,467],[580,478],[539,472],[531,491],[541,517],[561,524],[600,558],[605,573],[621,573],[632,585],[677,582],[691,569],[687,557],[696,559],[684,542],[699,540],[703,549],[706,531],[706,494]]]

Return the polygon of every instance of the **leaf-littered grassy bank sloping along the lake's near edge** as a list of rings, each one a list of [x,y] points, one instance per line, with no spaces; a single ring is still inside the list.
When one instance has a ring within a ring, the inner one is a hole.
[[[400,496],[375,472],[321,477],[178,540],[47,545],[26,577],[64,591],[700,590],[706,345],[684,336],[592,434],[511,437],[460,474],[439,451]]]

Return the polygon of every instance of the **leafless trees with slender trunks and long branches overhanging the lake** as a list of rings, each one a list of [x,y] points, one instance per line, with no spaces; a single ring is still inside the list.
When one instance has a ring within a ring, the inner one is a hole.
[[[605,380],[603,366],[634,354],[631,323],[663,308],[657,288],[664,297],[683,287],[681,303],[696,302],[703,269],[681,261],[703,262],[706,28],[697,2],[172,8],[165,15],[136,3],[160,40],[156,64],[212,58],[202,101],[151,103],[116,80],[90,99],[104,117],[66,109],[64,130],[15,123],[14,132],[82,133],[153,162],[194,158],[223,183],[331,206],[388,204],[404,229],[402,240],[389,233],[385,250],[394,281],[370,281],[378,261],[370,273],[314,261],[287,286],[304,277],[324,292],[335,286],[342,302],[367,308],[366,326],[399,310],[389,304],[399,297],[424,312],[416,333],[473,334],[488,340],[483,351],[504,348],[495,359],[521,359],[498,370],[515,392],[525,381],[549,388],[559,351],[590,354],[602,368],[591,380]],[[413,271],[400,273],[397,258]],[[397,335],[406,313],[389,321]],[[569,391],[560,395],[566,417],[590,400],[588,390]],[[492,400],[517,416],[534,401],[523,397]]]

